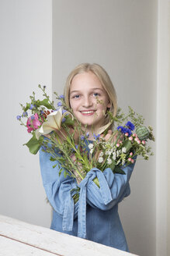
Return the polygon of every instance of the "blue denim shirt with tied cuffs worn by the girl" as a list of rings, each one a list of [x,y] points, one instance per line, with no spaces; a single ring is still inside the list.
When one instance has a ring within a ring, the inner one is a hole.
[[[113,173],[107,168],[101,172],[91,169],[81,183],[71,176],[59,176],[53,168],[50,154],[40,149],[40,169],[43,187],[53,207],[51,229],[68,233],[128,251],[127,241],[118,214],[118,203],[130,194],[129,180],[134,164],[123,168],[125,174]],[[99,187],[93,180],[99,180]],[[73,201],[74,189],[79,190],[79,200]]]

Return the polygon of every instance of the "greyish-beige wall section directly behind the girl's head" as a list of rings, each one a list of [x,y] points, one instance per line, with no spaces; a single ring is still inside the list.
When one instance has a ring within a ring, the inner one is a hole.
[[[119,105],[131,105],[156,128],[157,1],[53,1],[53,89],[81,62],[111,76]],[[156,131],[155,131],[156,132]],[[130,251],[156,254],[155,156],[137,162],[131,195],[120,204]]]

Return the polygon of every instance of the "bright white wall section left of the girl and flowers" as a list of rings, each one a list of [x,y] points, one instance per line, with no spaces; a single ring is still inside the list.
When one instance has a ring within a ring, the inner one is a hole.
[[[39,158],[23,144],[20,103],[29,101],[38,84],[51,91],[52,3],[50,0],[0,1],[0,214],[50,226],[50,207],[40,176]]]

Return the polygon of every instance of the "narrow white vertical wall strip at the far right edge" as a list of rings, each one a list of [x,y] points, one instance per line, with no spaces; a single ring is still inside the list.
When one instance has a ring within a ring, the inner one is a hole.
[[[158,0],[157,254],[170,254],[170,1]]]

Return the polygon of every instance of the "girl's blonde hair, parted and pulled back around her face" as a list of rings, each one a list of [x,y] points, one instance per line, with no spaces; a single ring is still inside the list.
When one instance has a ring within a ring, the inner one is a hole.
[[[71,71],[71,73],[68,76],[68,79],[66,80],[66,84],[64,87],[64,98],[65,98],[66,105],[68,105],[69,108],[71,107],[70,101],[69,101],[69,94],[70,94],[70,87],[71,87],[71,82],[73,78],[80,73],[88,73],[88,72],[94,73],[95,76],[99,78],[99,81],[102,84],[102,87],[105,89],[109,97],[109,101],[110,101],[109,111],[112,112],[113,116],[116,116],[117,99],[116,99],[115,88],[113,87],[113,83],[110,80],[108,73],[106,73],[106,70],[103,69],[102,66],[99,66],[99,64],[96,64],[96,63],[93,63],[93,64],[82,63],[76,66],[75,69]],[[106,122],[108,122],[107,117],[106,117]]]

